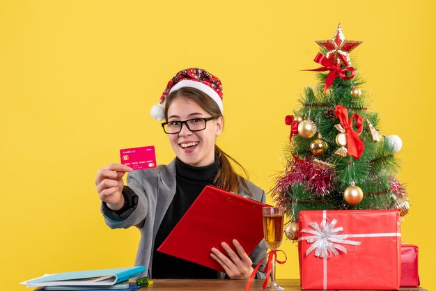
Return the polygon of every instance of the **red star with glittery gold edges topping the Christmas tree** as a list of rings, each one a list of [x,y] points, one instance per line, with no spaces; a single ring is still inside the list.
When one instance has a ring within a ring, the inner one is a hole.
[[[338,25],[336,33],[331,40],[316,40],[315,41],[322,49],[327,52],[327,58],[335,65],[345,65],[350,67],[350,52],[362,42],[357,40],[345,40],[342,32],[341,24]]]

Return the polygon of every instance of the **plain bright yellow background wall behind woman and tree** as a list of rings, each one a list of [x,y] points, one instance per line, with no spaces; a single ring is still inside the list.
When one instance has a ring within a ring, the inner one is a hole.
[[[352,56],[382,133],[403,139],[403,241],[419,246],[421,285],[436,288],[435,2],[269,2],[1,1],[2,290],[44,273],[133,265],[139,233],[104,225],[93,180],[120,148],[154,145],[159,164],[173,159],[148,111],[182,68],[223,81],[219,146],[269,190],[283,169],[284,117],[316,84],[299,70],[318,67],[314,41],[339,22],[364,41]],[[296,244],[283,249],[278,276],[297,278]]]

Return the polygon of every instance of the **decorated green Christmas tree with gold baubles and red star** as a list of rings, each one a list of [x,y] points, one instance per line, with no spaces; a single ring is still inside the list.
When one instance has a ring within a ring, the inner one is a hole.
[[[302,107],[286,116],[290,125],[287,164],[272,195],[290,221],[286,236],[297,239],[302,210],[409,210],[404,185],[395,175],[398,136],[383,136],[368,93],[350,61],[360,41],[345,40],[341,24],[315,60],[319,85],[305,88]],[[294,117],[295,116],[295,117]]]

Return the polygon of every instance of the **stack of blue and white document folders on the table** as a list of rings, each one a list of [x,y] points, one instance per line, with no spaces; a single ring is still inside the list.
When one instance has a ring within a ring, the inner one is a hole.
[[[91,271],[65,272],[45,275],[24,281],[20,284],[31,287],[43,287],[42,290],[137,290],[141,288],[129,279],[143,276],[143,266],[118,269],[100,269]]]

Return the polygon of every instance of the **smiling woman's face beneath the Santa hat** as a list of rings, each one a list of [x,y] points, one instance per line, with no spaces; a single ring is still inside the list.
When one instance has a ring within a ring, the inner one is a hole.
[[[208,118],[210,113],[184,97],[176,97],[168,109],[166,121],[185,121],[193,118]],[[206,128],[191,132],[186,125],[178,134],[168,134],[171,148],[176,156],[191,166],[208,166],[215,162],[215,139],[221,135],[223,118],[209,120]]]

